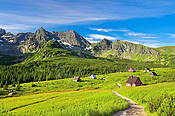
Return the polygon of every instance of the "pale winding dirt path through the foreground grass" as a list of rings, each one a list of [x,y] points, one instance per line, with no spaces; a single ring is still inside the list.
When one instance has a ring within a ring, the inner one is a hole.
[[[128,99],[115,91],[112,91],[112,92],[116,94],[117,96],[121,97],[122,99],[125,99],[130,105],[128,109],[116,112],[112,116],[147,116],[147,114],[144,112],[143,106],[138,105],[131,99]]]

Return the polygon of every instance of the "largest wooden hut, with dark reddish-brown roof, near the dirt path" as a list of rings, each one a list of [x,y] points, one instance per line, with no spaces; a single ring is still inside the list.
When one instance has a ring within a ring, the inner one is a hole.
[[[139,77],[131,76],[126,81],[126,86],[141,86],[141,85],[143,85],[143,83],[141,82]]]

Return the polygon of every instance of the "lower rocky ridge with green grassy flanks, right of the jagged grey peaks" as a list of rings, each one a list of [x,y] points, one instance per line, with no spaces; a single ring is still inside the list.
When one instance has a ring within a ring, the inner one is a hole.
[[[102,41],[92,45],[92,53],[98,57],[105,58],[125,58],[137,61],[159,61],[160,53],[140,44],[134,44],[126,41]]]

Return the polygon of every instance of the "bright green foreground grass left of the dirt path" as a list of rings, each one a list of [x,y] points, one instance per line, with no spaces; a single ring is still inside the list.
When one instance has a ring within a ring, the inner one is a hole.
[[[1,115],[14,116],[108,116],[129,107],[125,100],[109,90],[35,94],[0,102],[3,104]]]

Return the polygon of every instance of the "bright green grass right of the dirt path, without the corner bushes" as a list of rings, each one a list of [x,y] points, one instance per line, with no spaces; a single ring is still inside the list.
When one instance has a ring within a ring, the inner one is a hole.
[[[159,83],[135,88],[123,87],[118,89],[117,92],[143,105],[145,110],[149,112],[148,103],[151,99],[158,98],[165,93],[175,95],[175,82]],[[158,114],[149,113],[149,115],[155,116]]]

